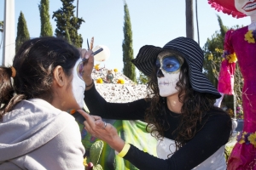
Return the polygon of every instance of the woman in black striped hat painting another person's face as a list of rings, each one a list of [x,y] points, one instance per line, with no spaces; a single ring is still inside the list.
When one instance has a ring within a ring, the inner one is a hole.
[[[88,58],[90,52],[85,55]],[[220,94],[202,73],[203,58],[198,43],[186,37],[177,37],[163,48],[143,46],[132,62],[150,77],[150,98],[108,103],[92,85],[85,89],[84,101],[96,116],[79,111],[86,119],[85,129],[139,169],[226,169],[224,144],[230,138],[231,120],[213,105]],[[89,60],[84,65],[87,73],[93,67],[93,57]],[[84,81],[92,82],[90,74]],[[148,132],[158,139],[157,157],[125,143],[101,116],[148,122]]]

